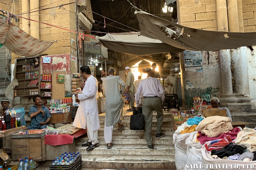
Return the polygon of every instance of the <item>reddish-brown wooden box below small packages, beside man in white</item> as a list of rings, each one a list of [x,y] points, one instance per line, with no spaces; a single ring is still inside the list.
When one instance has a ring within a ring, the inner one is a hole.
[[[50,124],[55,123],[70,123],[74,121],[74,118],[71,117],[71,112],[69,113],[52,113],[51,114]]]

